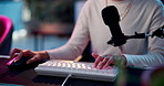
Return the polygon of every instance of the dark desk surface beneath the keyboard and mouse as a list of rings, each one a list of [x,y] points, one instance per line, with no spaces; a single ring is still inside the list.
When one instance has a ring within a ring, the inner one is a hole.
[[[32,85],[32,86],[60,86],[65,77],[39,76],[33,68],[25,71],[10,71],[6,63],[8,58],[0,57],[0,83]],[[140,86],[142,69],[127,68],[130,74],[126,86]],[[89,79],[69,78],[65,86],[115,86],[116,82],[98,82]]]

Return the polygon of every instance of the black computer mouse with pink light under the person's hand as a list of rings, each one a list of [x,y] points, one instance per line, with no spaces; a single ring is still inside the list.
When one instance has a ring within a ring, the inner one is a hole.
[[[39,64],[45,62],[45,61],[39,61],[39,62],[33,62],[31,64],[27,64],[27,61],[30,60],[31,57],[28,56],[22,56],[19,61],[16,62],[16,60],[18,58],[18,56],[16,56],[14,58],[10,60],[7,63],[7,66],[10,69],[25,69],[25,68],[34,68],[37,67]]]

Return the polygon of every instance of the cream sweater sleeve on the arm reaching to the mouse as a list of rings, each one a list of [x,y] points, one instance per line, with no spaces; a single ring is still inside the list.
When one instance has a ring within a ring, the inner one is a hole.
[[[88,11],[89,2],[86,1],[81,10],[80,17],[69,42],[61,47],[47,51],[50,60],[74,60],[82,54],[90,40],[88,30]]]

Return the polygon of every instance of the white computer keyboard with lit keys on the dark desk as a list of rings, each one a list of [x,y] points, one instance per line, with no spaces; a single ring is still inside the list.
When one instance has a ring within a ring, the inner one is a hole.
[[[71,77],[114,82],[119,74],[119,68],[113,67],[112,69],[96,69],[93,67],[93,63],[81,63],[72,61],[57,61],[51,60],[43,64],[40,64],[34,68],[39,75],[48,76],[64,76],[72,74]]]

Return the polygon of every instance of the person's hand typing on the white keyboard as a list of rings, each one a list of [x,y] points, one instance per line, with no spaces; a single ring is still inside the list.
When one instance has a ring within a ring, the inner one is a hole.
[[[114,55],[100,56],[98,54],[92,53],[92,56],[95,58],[93,66],[99,69],[109,69],[112,67],[111,66],[112,64],[117,65],[117,66],[126,64],[126,58],[122,55],[120,55],[120,56],[114,56]]]

